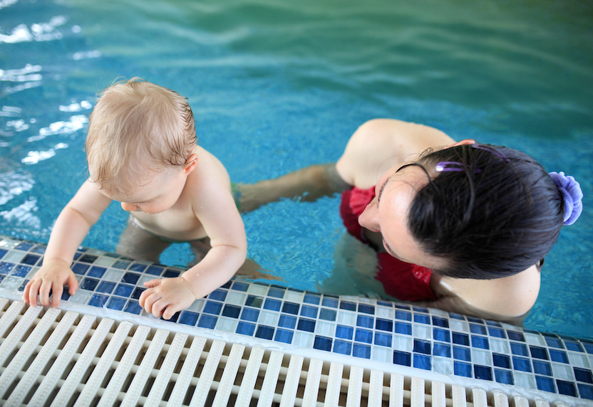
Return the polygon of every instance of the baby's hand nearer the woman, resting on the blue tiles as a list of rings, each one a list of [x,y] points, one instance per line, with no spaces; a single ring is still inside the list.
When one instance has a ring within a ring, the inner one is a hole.
[[[171,319],[196,300],[190,283],[183,277],[156,279],[144,283],[148,290],[140,295],[140,307],[155,317]]]

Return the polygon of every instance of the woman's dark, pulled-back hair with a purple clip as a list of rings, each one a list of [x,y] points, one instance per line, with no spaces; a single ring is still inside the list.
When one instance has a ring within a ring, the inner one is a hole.
[[[430,152],[425,169],[454,162],[413,200],[408,228],[430,255],[446,261],[440,275],[488,280],[526,270],[556,243],[564,208],[547,172],[506,147],[462,145]],[[430,171],[433,172],[433,171]]]

